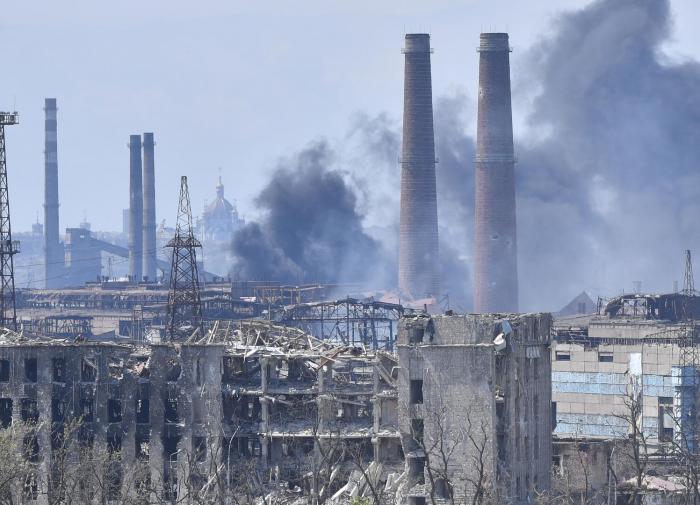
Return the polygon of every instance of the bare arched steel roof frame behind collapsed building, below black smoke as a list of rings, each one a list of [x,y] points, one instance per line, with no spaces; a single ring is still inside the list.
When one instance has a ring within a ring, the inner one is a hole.
[[[280,309],[274,319],[320,340],[372,349],[393,350],[396,324],[407,309],[402,305],[345,298],[302,303]]]

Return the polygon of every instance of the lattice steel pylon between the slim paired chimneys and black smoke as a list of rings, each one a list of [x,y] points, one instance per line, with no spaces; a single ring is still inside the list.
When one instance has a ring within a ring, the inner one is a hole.
[[[199,295],[196,249],[202,244],[192,229],[192,209],[187,177],[180,182],[180,203],[177,209],[175,236],[168,242],[173,248],[168,292],[168,335],[170,340],[182,340],[202,328],[202,301]]]

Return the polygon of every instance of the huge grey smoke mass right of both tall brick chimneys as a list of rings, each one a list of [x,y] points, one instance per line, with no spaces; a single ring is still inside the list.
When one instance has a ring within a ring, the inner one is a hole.
[[[700,245],[700,65],[664,56],[671,27],[668,0],[597,1],[517,67],[539,89],[516,146],[523,308],[668,292]]]

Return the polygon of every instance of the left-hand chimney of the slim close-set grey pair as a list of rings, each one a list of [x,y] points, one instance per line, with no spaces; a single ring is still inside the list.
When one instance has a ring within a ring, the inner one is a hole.
[[[143,277],[143,186],[141,135],[129,137],[129,275],[135,282]]]

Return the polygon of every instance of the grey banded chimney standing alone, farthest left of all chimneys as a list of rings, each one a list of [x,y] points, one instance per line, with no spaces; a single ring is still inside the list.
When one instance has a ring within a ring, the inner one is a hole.
[[[56,99],[44,99],[44,283],[47,288],[62,286],[63,247],[58,224],[58,144],[56,138]]]

